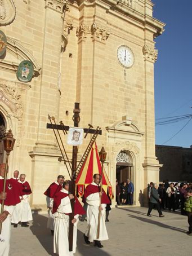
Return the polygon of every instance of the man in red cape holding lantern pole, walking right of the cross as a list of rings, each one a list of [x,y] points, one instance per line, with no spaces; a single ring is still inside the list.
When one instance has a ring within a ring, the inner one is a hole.
[[[84,233],[84,241],[86,244],[90,242],[95,242],[95,246],[102,248],[101,241],[108,240],[108,232],[106,231],[105,226],[105,208],[106,204],[110,204],[110,200],[106,195],[104,189],[100,192],[100,174],[93,175],[93,182],[88,185],[84,191],[83,200],[86,200],[87,206],[87,230]],[[100,206],[100,196],[101,197],[101,206]],[[101,211],[100,219],[100,236],[97,239],[97,227],[99,220],[99,211]]]

